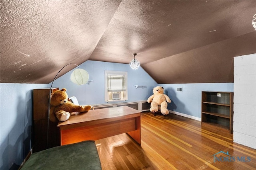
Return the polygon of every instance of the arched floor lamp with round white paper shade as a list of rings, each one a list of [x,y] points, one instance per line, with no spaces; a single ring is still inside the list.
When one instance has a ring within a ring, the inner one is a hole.
[[[70,63],[70,64],[73,64],[73,63]],[[70,65],[70,64],[67,64],[65,65],[64,67]],[[76,64],[74,64],[76,65]],[[77,84],[77,85],[82,85],[82,84],[86,84],[88,79],[89,79],[89,74],[86,70],[83,70],[81,68],[79,68],[78,65],[76,65],[78,68],[76,68],[76,70],[74,70],[70,76],[70,80]],[[60,69],[60,71],[64,68],[62,67]],[[54,80],[56,79],[56,77],[58,76],[58,74],[60,73],[60,71],[56,74],[56,76],[54,77],[53,81],[52,81],[52,84],[54,83]],[[49,120],[50,120],[50,106],[51,106],[51,93],[52,93],[52,85],[50,87],[50,92],[49,92],[49,103],[48,103],[48,120],[47,120],[47,149],[48,149],[48,144],[49,144]]]

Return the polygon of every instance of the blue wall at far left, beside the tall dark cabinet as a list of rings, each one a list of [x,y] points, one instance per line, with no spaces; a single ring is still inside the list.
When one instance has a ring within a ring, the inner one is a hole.
[[[1,170],[18,169],[31,149],[32,89],[48,84],[0,83]]]

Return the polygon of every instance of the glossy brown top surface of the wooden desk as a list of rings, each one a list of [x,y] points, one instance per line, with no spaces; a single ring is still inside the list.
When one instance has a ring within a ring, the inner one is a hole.
[[[140,116],[140,112],[128,106],[109,107],[89,110],[88,112],[83,113],[76,113],[70,116],[68,120],[59,122],[58,127],[89,121],[102,121],[107,119],[117,120],[138,116]]]

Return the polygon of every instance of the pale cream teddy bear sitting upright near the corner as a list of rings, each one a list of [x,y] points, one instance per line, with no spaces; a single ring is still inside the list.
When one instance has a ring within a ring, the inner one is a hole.
[[[155,113],[158,111],[158,106],[160,106],[160,111],[163,115],[168,115],[169,111],[167,109],[167,102],[170,103],[170,98],[164,94],[164,88],[161,86],[156,86],[153,88],[153,95],[148,98],[148,103],[150,104],[150,111]]]

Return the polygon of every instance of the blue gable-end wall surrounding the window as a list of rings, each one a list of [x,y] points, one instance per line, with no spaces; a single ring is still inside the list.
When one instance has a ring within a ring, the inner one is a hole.
[[[126,71],[128,72],[128,100],[133,102],[147,100],[152,89],[157,86],[148,73],[141,67],[132,70],[129,64],[108,63],[101,61],[86,61],[79,68],[86,70],[89,74],[90,85],[76,85],[71,82],[70,75],[74,70],[64,74],[54,81],[53,86],[60,89],[66,88],[69,97],[76,96],[81,105],[105,104],[105,70]],[[76,68],[74,68],[76,69]],[[146,88],[135,88],[134,85],[146,85]]]

